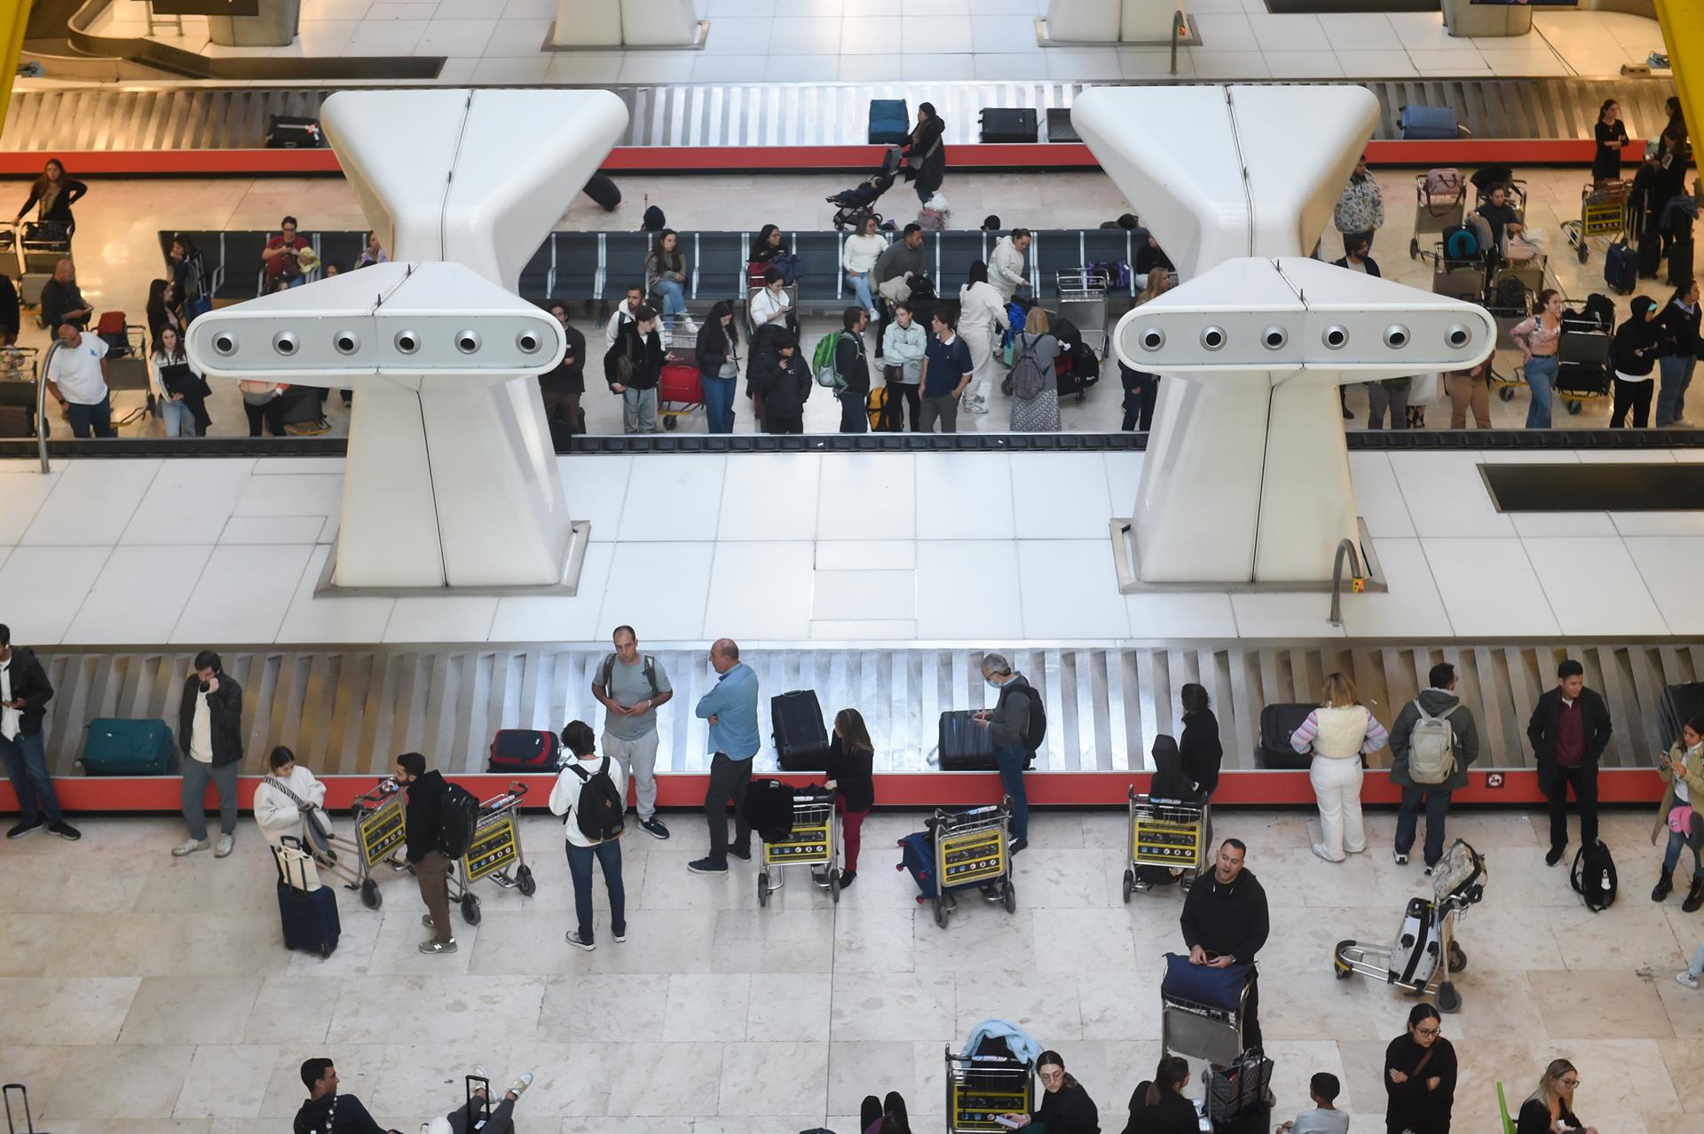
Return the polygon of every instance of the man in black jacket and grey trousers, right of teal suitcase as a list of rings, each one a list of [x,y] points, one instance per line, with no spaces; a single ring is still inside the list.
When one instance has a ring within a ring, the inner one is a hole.
[[[216,858],[237,841],[237,770],[242,766],[242,686],[225,674],[218,654],[196,654],[177,702],[177,747],[184,754],[184,824],[189,838],[172,848],[182,858],[208,848],[208,783],[218,788]]]

